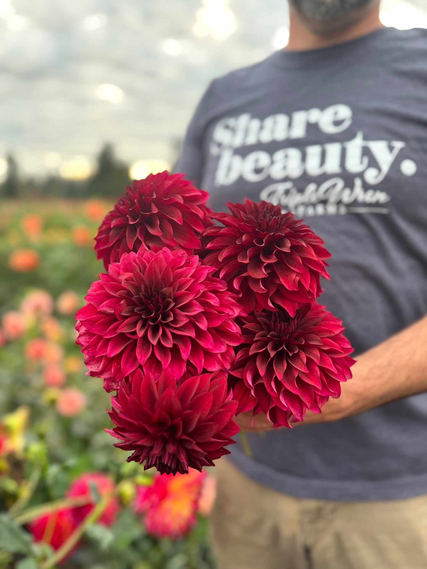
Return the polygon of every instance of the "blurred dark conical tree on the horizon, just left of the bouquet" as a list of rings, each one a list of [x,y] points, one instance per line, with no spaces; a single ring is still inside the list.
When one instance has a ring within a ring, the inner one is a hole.
[[[96,174],[88,180],[88,195],[118,197],[125,193],[129,183],[128,166],[117,160],[113,146],[106,144],[98,155]]]

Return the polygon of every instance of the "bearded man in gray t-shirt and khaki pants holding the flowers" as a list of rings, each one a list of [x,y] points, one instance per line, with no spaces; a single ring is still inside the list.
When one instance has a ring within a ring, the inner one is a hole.
[[[325,240],[357,360],[297,428],[237,418],[266,432],[217,463],[221,569],[427,567],[426,62],[377,0],[290,0],[286,50],[213,81],[188,128],[177,171],[213,209],[281,204]]]

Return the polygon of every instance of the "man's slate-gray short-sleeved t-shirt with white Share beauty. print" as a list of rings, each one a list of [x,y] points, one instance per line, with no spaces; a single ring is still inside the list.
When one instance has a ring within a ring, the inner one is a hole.
[[[212,81],[176,171],[217,211],[249,197],[305,219],[332,254],[320,302],[355,354],[427,314],[426,30],[280,51]],[[427,394],[248,439],[252,458],[237,437],[232,461],[294,496],[427,493]]]

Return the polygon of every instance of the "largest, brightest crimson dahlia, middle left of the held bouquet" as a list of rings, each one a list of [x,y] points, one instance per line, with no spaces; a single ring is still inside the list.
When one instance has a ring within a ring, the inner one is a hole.
[[[155,376],[170,368],[176,378],[187,362],[196,373],[229,369],[241,341],[233,320],[241,307],[213,271],[197,255],[143,245],[112,263],[76,314],[89,374],[111,391],[138,367]]]

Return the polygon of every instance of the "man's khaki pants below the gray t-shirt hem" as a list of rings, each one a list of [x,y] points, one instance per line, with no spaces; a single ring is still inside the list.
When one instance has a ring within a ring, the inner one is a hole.
[[[281,494],[217,461],[220,569],[427,569],[427,496],[377,502]]]

